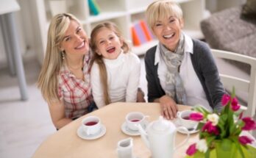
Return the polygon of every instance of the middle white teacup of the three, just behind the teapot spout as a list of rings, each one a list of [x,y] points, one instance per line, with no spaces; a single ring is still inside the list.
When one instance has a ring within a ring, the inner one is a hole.
[[[138,131],[138,124],[144,126],[145,120],[146,115],[142,112],[129,112],[125,117],[128,129],[133,131]]]

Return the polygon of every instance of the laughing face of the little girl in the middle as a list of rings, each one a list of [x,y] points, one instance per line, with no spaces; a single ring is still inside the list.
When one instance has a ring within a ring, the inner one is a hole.
[[[115,60],[121,53],[123,41],[111,29],[103,27],[96,35],[96,53],[105,59]]]

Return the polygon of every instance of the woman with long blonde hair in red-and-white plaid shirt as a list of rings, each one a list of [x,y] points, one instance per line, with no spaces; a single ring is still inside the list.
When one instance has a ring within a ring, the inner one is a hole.
[[[93,104],[90,59],[88,37],[77,18],[66,13],[55,15],[38,87],[57,129],[88,113]]]

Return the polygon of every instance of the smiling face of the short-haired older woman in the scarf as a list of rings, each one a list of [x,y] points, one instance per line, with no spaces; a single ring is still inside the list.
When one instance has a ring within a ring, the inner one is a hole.
[[[170,51],[175,51],[182,33],[183,20],[175,16],[159,19],[152,30],[157,39]]]

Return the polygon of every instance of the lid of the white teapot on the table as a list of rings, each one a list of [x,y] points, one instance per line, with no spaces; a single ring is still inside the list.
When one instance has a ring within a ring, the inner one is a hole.
[[[175,129],[175,126],[171,122],[166,121],[163,116],[160,115],[159,119],[153,123],[152,129],[161,132],[168,130],[170,127],[171,129]]]

